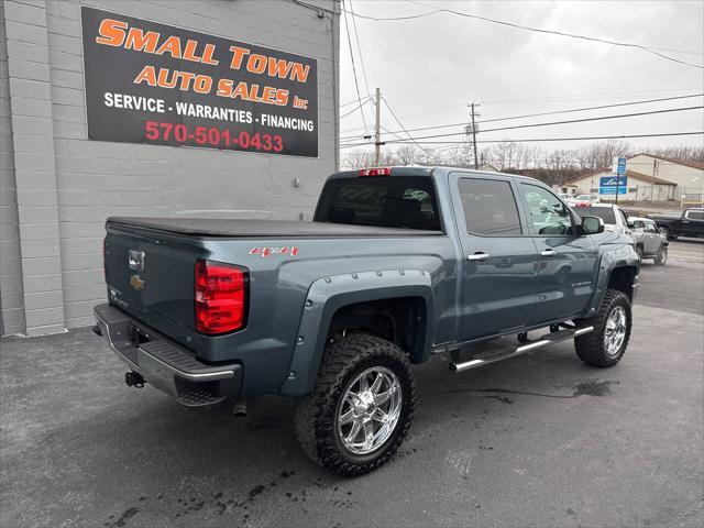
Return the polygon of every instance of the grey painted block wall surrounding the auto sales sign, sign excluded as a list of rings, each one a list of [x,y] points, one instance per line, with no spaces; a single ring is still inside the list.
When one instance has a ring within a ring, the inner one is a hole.
[[[309,3],[327,10],[337,6],[333,0]],[[315,10],[286,0],[6,0],[4,4],[21,252],[12,246],[10,227],[7,233],[3,228],[2,237],[10,244],[8,263],[14,258],[22,264],[24,288],[12,284],[8,267],[2,283],[6,333],[10,333],[12,300],[24,304],[29,334],[92,322],[92,307],[106,295],[101,241],[108,216],[298,219],[312,212],[322,182],[338,164],[338,16],[319,19]],[[87,140],[80,6],[317,58],[319,157]],[[9,184],[12,174],[7,169]],[[301,178],[300,187],[294,187],[295,178]],[[3,210],[4,201],[12,200],[3,191]],[[12,204],[8,210],[11,215]],[[2,243],[6,262],[4,239]],[[13,331],[21,326],[18,321]]]

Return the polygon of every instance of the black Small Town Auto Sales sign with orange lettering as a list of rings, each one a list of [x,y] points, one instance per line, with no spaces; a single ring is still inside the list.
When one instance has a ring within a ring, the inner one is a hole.
[[[88,138],[318,156],[314,58],[81,8]]]

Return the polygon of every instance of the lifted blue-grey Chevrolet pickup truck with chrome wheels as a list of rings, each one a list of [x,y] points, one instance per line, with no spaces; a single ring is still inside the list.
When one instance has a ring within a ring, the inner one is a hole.
[[[312,222],[110,218],[105,263],[95,331],[128,385],[295,398],[302,448],[342,475],[395,453],[433,354],[460,372],[574,339],[618,363],[640,265],[541,183],[446,167],[334,174]]]

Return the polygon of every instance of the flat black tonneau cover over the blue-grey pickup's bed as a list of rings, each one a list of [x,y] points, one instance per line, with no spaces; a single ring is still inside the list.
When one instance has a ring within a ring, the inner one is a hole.
[[[230,238],[320,238],[320,237],[413,237],[443,234],[441,231],[377,228],[328,222],[296,222],[285,220],[240,220],[231,218],[148,218],[110,217],[110,227],[154,229],[195,237]]]

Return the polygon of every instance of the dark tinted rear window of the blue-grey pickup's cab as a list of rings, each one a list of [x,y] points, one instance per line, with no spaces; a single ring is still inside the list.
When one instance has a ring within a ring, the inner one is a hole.
[[[440,230],[432,180],[427,176],[331,179],[322,188],[317,222]]]

